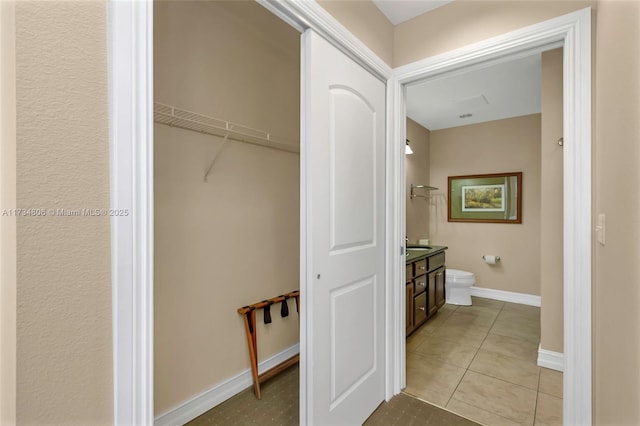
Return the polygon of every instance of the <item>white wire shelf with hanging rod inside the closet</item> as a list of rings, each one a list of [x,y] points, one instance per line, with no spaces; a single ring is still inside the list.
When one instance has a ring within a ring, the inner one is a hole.
[[[153,121],[170,127],[192,130],[207,135],[224,137],[239,142],[273,148],[280,151],[299,153],[300,147],[296,142],[286,143],[274,140],[270,133],[252,129],[242,124],[220,120],[214,117],[198,114],[192,111],[176,108],[171,105],[156,102],[153,104]]]

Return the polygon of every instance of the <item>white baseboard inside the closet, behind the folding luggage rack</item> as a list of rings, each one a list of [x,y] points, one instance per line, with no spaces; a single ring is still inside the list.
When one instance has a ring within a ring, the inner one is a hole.
[[[300,353],[300,344],[296,343],[290,348],[262,361],[258,365],[258,371],[262,373],[298,353]],[[183,402],[177,407],[160,414],[155,418],[154,425],[183,425],[252,385],[251,369],[247,369],[224,382],[218,383],[211,389]]]

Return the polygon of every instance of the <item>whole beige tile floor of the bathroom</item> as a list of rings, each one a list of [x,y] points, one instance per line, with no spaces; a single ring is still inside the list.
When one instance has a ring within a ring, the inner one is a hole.
[[[561,425],[562,373],[538,367],[540,308],[473,298],[407,339],[405,393],[490,426]]]

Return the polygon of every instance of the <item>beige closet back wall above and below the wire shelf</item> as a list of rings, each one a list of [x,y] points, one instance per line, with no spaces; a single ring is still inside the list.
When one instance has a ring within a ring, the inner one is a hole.
[[[155,4],[155,99],[297,144],[300,34],[253,2]],[[185,48],[188,47],[188,48]],[[247,370],[240,306],[299,288],[299,155],[155,125],[155,412]],[[299,339],[265,326],[264,360]]]

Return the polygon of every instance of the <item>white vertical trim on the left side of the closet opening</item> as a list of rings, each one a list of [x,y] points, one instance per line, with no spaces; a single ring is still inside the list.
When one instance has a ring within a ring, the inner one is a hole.
[[[153,3],[108,4],[114,420],[153,424]]]

